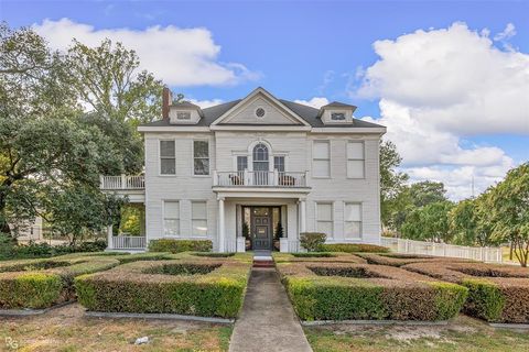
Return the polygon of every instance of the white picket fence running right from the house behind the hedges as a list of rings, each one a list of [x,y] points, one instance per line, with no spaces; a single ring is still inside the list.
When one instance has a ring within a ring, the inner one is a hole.
[[[381,245],[389,248],[392,252],[404,254],[462,257],[489,263],[503,261],[501,248],[464,246],[395,238],[381,238]]]

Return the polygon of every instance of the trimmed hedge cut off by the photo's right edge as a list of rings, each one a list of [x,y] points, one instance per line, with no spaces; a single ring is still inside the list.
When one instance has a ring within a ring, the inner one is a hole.
[[[485,263],[414,263],[402,268],[468,288],[465,312],[493,322],[529,322],[529,271]]]

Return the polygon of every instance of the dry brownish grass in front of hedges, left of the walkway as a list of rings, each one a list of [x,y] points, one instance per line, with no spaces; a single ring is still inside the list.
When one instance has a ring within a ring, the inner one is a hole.
[[[79,305],[0,318],[0,351],[227,351],[233,328],[177,320],[86,318]],[[148,344],[134,345],[149,337]]]

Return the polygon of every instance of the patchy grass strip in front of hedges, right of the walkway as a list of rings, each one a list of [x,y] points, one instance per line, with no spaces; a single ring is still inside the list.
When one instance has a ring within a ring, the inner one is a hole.
[[[447,326],[325,326],[305,327],[314,352],[510,352],[527,351],[529,333],[495,329],[460,316]]]

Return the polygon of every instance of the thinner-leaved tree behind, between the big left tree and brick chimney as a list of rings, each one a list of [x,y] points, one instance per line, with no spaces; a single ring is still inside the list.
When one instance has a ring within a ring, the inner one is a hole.
[[[68,65],[73,88],[85,108],[134,127],[160,118],[162,81],[140,70],[136,52],[121,43],[105,40],[89,47],[74,41]]]

